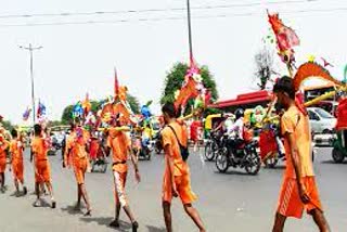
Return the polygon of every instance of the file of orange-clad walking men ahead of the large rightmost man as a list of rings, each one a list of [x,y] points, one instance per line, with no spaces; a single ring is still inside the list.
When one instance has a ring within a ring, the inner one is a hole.
[[[172,220],[170,205],[174,197],[180,197],[184,206],[185,212],[192,218],[200,231],[205,231],[204,224],[197,210],[192,206],[196,199],[191,189],[189,166],[181,156],[181,147],[188,145],[188,130],[184,123],[177,119],[174,104],[163,106],[163,116],[166,125],[162,131],[162,142],[165,151],[165,175],[163,180],[163,210],[167,231],[172,231]],[[168,128],[171,129],[168,129]],[[42,206],[42,194],[47,190],[51,197],[51,207],[56,207],[56,201],[53,195],[52,178],[50,162],[48,158],[48,150],[50,149],[50,138],[42,125],[34,126],[34,134],[30,140],[30,160],[34,163],[35,169],[35,207]],[[138,231],[139,223],[136,220],[133,211],[130,209],[129,199],[125,192],[125,185],[128,175],[128,160],[130,159],[134,177],[138,182],[141,181],[138,156],[133,150],[139,146],[137,140],[131,141],[128,132],[130,127],[126,125],[121,117],[112,120],[106,129],[106,145],[112,153],[112,172],[114,177],[115,189],[115,219],[110,223],[113,228],[119,227],[119,214],[123,208],[132,224],[132,231]],[[10,164],[13,167],[13,177],[16,188],[16,195],[26,195],[27,188],[24,182],[24,162],[23,153],[25,145],[23,138],[16,129],[12,130],[12,139],[5,138],[5,130],[0,131],[0,183],[1,191],[5,192],[4,175],[7,168],[7,151],[10,152]],[[74,169],[77,185],[77,203],[76,210],[80,209],[81,201],[86,203],[87,211],[85,216],[92,216],[92,207],[90,204],[85,178],[86,172],[90,168],[88,151],[90,149],[90,133],[82,127],[79,119],[72,125],[70,132],[66,139],[64,147],[63,167],[72,167]],[[20,185],[22,190],[20,192]]]

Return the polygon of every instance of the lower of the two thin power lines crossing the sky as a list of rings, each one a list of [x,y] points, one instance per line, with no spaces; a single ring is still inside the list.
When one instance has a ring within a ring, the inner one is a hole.
[[[336,11],[347,11],[347,8],[335,9],[310,9],[310,10],[296,10],[296,11],[282,11],[281,14],[305,14],[305,13],[331,13]],[[228,18],[228,17],[242,17],[261,15],[262,12],[249,13],[233,13],[233,14],[217,14],[217,15],[196,15],[194,20],[208,20],[208,18]],[[28,26],[63,26],[63,25],[92,25],[92,24],[117,24],[117,23],[131,23],[131,22],[164,22],[164,21],[185,21],[184,16],[171,17],[143,17],[133,20],[114,20],[114,21],[83,21],[83,22],[54,22],[54,23],[28,23],[28,24],[0,24],[0,27],[28,27]]]

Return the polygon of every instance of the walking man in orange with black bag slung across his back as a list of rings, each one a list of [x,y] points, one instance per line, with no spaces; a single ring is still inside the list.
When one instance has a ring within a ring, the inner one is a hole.
[[[183,123],[177,120],[174,104],[165,104],[162,108],[166,127],[162,131],[165,151],[165,173],[163,182],[163,210],[166,229],[172,231],[171,199],[179,196],[185,212],[192,218],[200,231],[205,227],[192,203],[197,198],[191,189],[189,166],[183,160],[180,144],[188,146],[188,131]]]

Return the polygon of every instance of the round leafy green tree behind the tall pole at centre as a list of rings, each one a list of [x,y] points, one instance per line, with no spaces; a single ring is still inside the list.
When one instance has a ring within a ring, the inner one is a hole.
[[[185,63],[176,63],[172,66],[172,68],[167,73],[164,82],[164,91],[160,98],[160,104],[165,104],[167,102],[175,102],[175,92],[181,89],[189,65]],[[211,101],[215,102],[218,99],[216,81],[206,65],[203,65],[200,68],[203,83],[206,89],[211,91]],[[188,111],[190,109],[190,106],[192,104],[192,101],[188,103]]]

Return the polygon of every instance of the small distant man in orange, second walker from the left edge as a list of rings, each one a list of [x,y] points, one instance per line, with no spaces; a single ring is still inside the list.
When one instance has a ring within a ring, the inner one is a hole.
[[[16,189],[16,196],[20,196],[20,183],[23,188],[23,194],[27,194],[27,189],[24,185],[24,165],[23,165],[23,152],[24,144],[18,137],[16,129],[11,131],[12,140],[10,143],[10,153],[11,153],[11,163],[12,163],[12,172],[14,179],[14,185]]]

